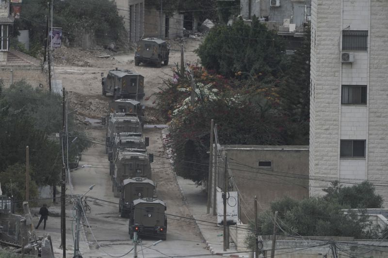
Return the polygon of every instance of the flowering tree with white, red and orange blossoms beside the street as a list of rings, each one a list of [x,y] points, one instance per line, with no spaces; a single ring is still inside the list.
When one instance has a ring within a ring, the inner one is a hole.
[[[171,113],[168,144],[173,150],[174,168],[184,178],[197,183],[207,178],[211,119],[218,123],[222,144],[284,143],[275,102],[261,92],[220,92],[211,84],[197,83],[194,106],[190,104],[188,89],[180,88],[179,92],[187,98]]]

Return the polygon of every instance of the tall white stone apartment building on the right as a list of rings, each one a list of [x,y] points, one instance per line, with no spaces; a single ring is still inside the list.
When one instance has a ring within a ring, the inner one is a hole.
[[[310,178],[369,180],[387,206],[388,0],[311,5]]]

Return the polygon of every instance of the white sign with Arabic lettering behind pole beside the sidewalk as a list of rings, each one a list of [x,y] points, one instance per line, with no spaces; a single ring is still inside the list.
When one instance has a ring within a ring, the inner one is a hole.
[[[223,192],[217,192],[217,223],[223,224],[224,221],[224,200],[222,199]],[[236,192],[226,193],[226,222],[237,223],[238,222],[238,197]]]

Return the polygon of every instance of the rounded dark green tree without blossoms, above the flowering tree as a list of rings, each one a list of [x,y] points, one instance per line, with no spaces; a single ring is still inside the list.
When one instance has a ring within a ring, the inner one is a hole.
[[[251,26],[242,18],[232,26],[215,26],[197,54],[204,67],[218,74],[233,77],[246,72],[262,80],[282,75],[287,60],[284,51],[282,39],[254,16]]]

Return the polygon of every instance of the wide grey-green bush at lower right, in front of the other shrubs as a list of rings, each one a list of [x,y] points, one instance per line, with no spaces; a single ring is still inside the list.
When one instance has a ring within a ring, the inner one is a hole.
[[[278,233],[301,236],[342,236],[356,239],[376,238],[381,228],[373,226],[363,211],[344,211],[344,207],[335,201],[320,197],[294,200],[284,197],[271,203],[271,208],[259,214],[259,233],[273,233],[274,213],[278,211]],[[254,228],[254,223],[250,224]],[[248,234],[247,247],[254,247],[255,235]]]

